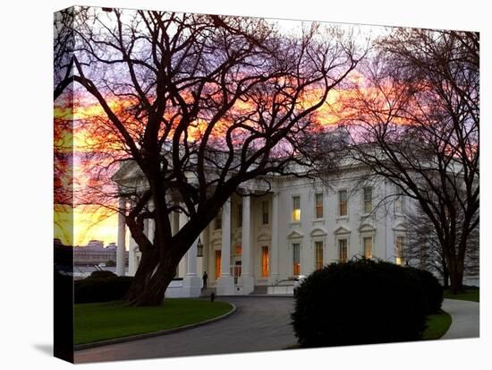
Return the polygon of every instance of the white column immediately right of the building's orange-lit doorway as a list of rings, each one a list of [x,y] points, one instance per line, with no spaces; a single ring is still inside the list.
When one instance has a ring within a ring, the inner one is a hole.
[[[250,294],[255,288],[253,276],[253,246],[251,245],[251,198],[242,197],[242,272],[238,285],[242,286],[244,294]]]

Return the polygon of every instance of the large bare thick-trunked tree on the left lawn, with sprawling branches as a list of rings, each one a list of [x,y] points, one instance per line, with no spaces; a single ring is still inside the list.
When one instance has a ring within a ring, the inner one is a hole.
[[[127,163],[144,179],[112,193],[98,172],[91,188],[131,199],[125,222],[141,259],[128,299],[158,305],[182,256],[240,185],[310,167],[302,154],[312,115],[359,57],[344,32],[317,23],[285,37],[264,20],[228,16],[91,8],[78,22],[75,96],[89,93],[102,109],[81,120],[104,137],[91,152],[101,168]],[[189,219],[175,235],[173,211]],[[155,221],[153,239],[146,219]]]

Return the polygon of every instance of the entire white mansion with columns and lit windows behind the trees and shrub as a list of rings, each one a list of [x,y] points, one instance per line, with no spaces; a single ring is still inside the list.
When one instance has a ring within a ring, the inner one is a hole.
[[[410,202],[395,196],[396,189],[384,179],[362,183],[362,173],[361,168],[339,168],[324,181],[275,176],[267,194],[233,195],[180,262],[166,297],[199,297],[204,271],[208,288],[216,288],[217,295],[290,294],[295,277],[355,255],[404,263],[405,206],[410,208]],[[186,216],[170,217],[175,233]],[[151,221],[145,229],[153,233]],[[125,239],[120,217],[120,274]],[[133,275],[140,252],[129,240],[128,274]],[[200,255],[198,244],[203,245]]]

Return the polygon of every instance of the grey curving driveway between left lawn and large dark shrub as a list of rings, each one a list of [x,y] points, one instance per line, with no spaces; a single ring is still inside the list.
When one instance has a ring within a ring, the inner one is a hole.
[[[227,297],[236,305],[216,323],[170,335],[75,352],[76,363],[276,350],[296,343],[292,297]]]

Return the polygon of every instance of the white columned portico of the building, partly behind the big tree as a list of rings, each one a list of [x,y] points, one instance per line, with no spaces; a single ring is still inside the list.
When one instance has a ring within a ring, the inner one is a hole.
[[[126,204],[121,198],[122,209]],[[118,251],[127,245],[123,214],[119,219]],[[188,221],[184,213],[172,212],[169,217],[173,234]],[[278,229],[277,224],[278,197],[274,193],[258,197],[234,195],[182,258],[166,297],[199,297],[204,271],[208,272],[208,288],[216,288],[216,294],[221,296],[248,295],[255,285],[276,282],[278,258],[273,256],[278,255],[278,235],[272,230]],[[146,224],[145,232],[153,237],[152,221]],[[198,255],[199,241],[202,255]],[[140,262],[140,251],[131,237],[128,245],[128,275],[132,276]],[[120,275],[123,263],[118,259],[116,271]]]

